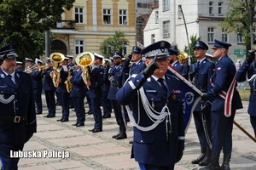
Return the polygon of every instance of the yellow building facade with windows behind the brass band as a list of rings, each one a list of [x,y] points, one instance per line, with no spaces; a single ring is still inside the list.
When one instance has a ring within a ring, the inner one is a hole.
[[[115,31],[124,32],[130,42],[123,54],[128,54],[137,43],[135,0],[76,0],[73,8],[66,10],[61,18],[51,30],[55,36],[51,53],[100,54],[101,42],[112,37]]]

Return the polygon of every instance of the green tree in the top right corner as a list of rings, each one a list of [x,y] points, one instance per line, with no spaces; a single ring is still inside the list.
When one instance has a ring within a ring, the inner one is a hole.
[[[237,34],[241,34],[247,50],[251,48],[250,26],[253,23],[253,16],[255,15],[254,8],[254,0],[230,0],[225,19],[219,24],[221,29],[224,29],[226,33],[234,31]],[[248,17],[248,11],[250,17]]]

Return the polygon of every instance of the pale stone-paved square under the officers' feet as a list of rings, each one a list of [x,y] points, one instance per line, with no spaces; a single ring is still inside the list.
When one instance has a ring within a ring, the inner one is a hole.
[[[45,101],[44,94],[43,101]],[[244,109],[236,112],[235,120],[253,135],[253,129],[247,115],[247,105],[248,102],[244,101]],[[61,106],[57,106],[55,118],[45,118],[47,109],[44,102],[43,114],[38,115],[38,133],[34,134],[24,148],[26,151],[33,151],[35,156],[39,157],[21,158],[20,170],[139,169],[137,162],[130,158],[131,144],[129,144],[129,140],[132,139],[130,122],[128,123],[128,138],[116,140],[111,138],[119,130],[113,113],[111,118],[103,119],[103,131],[101,133],[90,133],[88,130],[93,127],[93,116],[86,115],[84,127],[73,127],[72,124],[75,122],[76,116],[72,110],[70,111],[69,122],[56,121],[61,117]],[[69,155],[69,157],[58,158],[54,155],[55,153],[60,156]],[[175,169],[199,169],[199,166],[190,163],[192,159],[199,156],[199,153],[200,146],[192,119],[186,133],[183,159],[176,164]],[[48,155],[44,156],[44,154]],[[220,163],[221,160],[222,156]],[[232,170],[256,169],[256,144],[235,125],[230,168]]]

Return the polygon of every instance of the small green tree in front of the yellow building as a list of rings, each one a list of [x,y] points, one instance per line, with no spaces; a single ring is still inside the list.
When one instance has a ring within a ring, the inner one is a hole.
[[[112,37],[108,37],[100,45],[100,52],[105,56],[111,57],[113,52],[118,51],[123,54],[125,45],[129,45],[129,41],[125,38],[125,33],[122,31],[115,31]]]

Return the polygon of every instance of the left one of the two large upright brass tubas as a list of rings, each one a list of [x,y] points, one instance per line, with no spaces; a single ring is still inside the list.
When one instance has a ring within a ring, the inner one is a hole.
[[[53,73],[52,73],[52,82],[54,83],[55,88],[59,87],[59,82],[57,82],[60,79],[61,71],[59,63],[65,59],[65,56],[61,53],[53,53],[49,55],[49,59],[54,62],[53,64]]]

